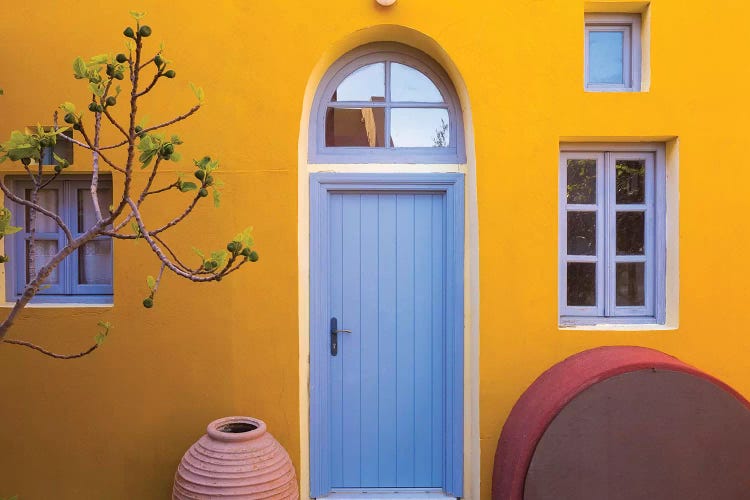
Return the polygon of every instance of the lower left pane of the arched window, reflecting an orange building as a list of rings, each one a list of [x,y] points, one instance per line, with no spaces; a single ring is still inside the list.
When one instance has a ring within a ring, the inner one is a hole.
[[[328,108],[327,147],[383,147],[384,108]]]

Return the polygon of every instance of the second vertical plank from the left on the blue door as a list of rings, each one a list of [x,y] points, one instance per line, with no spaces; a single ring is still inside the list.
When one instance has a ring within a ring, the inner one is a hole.
[[[360,486],[360,195],[343,195],[342,202],[343,309],[339,328],[342,364],[342,453],[345,488]]]

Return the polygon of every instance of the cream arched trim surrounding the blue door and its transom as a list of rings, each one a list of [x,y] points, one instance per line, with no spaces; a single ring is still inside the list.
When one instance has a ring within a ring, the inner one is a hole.
[[[403,42],[428,54],[449,75],[460,103],[460,113],[465,137],[464,162],[448,164],[355,164],[309,161],[309,125],[313,101],[320,82],[330,67],[344,54],[359,46],[374,42]],[[411,28],[384,24],[353,31],[331,44],[313,65],[300,110],[300,135],[298,141],[298,302],[299,302],[299,411],[300,455],[298,476],[300,498],[310,498],[310,174],[313,172],[452,172],[463,173],[465,182],[465,267],[464,283],[464,498],[479,498],[480,491],[480,438],[479,438],[479,227],[477,210],[476,154],[474,130],[471,119],[469,93],[461,72],[449,55],[434,39]]]

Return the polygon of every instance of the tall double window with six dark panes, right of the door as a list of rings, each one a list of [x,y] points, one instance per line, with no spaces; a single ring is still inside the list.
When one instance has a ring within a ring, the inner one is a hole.
[[[664,323],[665,193],[662,146],[561,152],[561,325]]]

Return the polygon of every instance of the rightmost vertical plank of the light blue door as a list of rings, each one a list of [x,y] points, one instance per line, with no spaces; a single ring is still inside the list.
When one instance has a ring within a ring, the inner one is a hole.
[[[445,196],[432,196],[432,480],[445,466]]]

